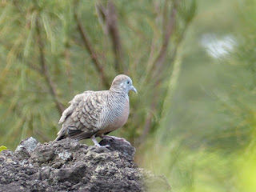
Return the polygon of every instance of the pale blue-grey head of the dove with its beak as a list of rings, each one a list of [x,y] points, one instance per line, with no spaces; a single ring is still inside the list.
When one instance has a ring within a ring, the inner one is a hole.
[[[137,94],[137,90],[133,86],[133,81],[125,74],[118,74],[118,76],[114,78],[110,90],[114,92],[122,91],[126,92],[126,94],[128,94],[130,90],[133,90]]]

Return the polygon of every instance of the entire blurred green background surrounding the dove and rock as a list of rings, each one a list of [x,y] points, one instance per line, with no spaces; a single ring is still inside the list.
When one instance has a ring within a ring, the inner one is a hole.
[[[0,1],[0,146],[54,140],[75,94],[128,74],[112,135],[173,191],[256,191],[256,1]],[[92,145],[89,140],[87,144]]]

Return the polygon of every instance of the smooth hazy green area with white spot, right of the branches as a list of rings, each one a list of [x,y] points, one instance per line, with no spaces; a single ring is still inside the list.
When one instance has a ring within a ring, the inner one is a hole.
[[[198,1],[166,116],[139,151],[175,191],[256,190],[254,5]],[[222,40],[233,43],[226,54],[216,52]]]

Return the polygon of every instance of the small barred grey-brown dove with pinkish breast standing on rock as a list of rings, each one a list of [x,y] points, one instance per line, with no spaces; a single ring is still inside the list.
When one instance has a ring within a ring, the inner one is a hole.
[[[77,94],[69,102],[70,106],[62,112],[58,123],[62,129],[54,141],[63,138],[82,140],[91,138],[94,146],[100,146],[96,137],[123,138],[109,136],[110,132],[122,127],[130,114],[129,91],[137,90],[130,77],[118,74],[110,86],[110,90],[87,90]]]

